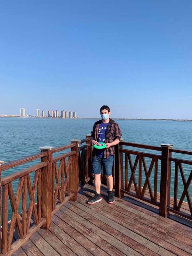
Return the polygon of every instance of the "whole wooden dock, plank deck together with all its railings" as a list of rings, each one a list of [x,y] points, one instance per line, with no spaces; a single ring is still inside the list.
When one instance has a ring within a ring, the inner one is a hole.
[[[172,153],[184,158],[192,151],[120,141],[112,170],[115,204],[106,201],[102,173],[103,200],[89,205],[94,193],[91,151],[86,135],[59,148],[42,147],[40,153],[0,161],[1,255],[192,256],[192,170],[188,177],[185,174],[185,165],[192,161],[172,158]],[[33,160],[39,163],[1,178],[2,172]],[[174,197],[170,197],[172,172]]]

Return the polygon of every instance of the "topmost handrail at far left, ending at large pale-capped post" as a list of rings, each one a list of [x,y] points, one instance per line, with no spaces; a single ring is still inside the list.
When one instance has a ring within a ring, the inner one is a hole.
[[[15,166],[28,163],[30,161],[36,160],[36,159],[38,159],[40,157],[43,157],[43,156],[46,156],[46,152],[37,153],[37,154],[34,154],[34,155],[26,156],[26,157],[20,158],[18,160],[14,160],[14,161],[2,164],[1,171],[5,171],[5,170],[8,170],[8,169],[13,168]]]

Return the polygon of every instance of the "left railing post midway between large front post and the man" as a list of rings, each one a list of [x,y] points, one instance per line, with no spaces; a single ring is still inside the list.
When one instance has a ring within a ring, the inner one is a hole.
[[[76,144],[75,147],[71,148],[71,151],[75,151],[76,154],[73,155],[72,166],[69,172],[70,194],[74,193],[74,196],[69,201],[75,202],[77,200],[77,189],[79,187],[78,156],[81,140],[71,140],[71,143]]]

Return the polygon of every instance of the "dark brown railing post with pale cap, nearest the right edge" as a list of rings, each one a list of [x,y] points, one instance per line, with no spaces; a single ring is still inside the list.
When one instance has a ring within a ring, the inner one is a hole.
[[[170,202],[170,184],[171,184],[171,161],[169,157],[172,156],[172,152],[169,151],[173,145],[171,144],[160,144],[162,147],[161,153],[161,183],[160,183],[160,205],[159,215],[167,218],[169,211],[167,207]]]

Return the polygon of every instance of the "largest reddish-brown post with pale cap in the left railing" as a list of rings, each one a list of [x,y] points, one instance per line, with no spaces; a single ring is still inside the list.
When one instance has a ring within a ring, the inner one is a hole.
[[[47,165],[42,168],[41,173],[41,217],[46,219],[46,222],[41,226],[42,229],[48,229],[51,226],[52,213],[52,149],[54,147],[41,147],[41,152],[47,152],[46,156],[41,157],[41,162],[46,162]]]

